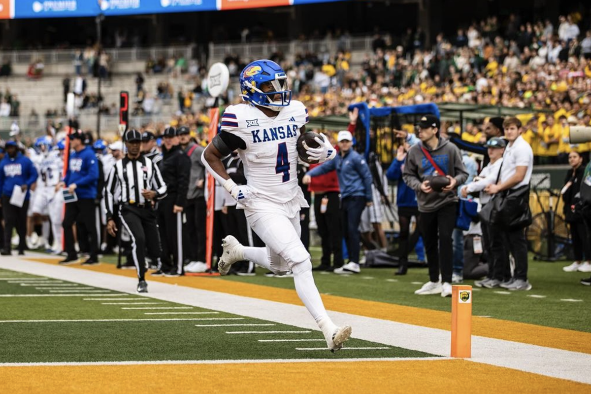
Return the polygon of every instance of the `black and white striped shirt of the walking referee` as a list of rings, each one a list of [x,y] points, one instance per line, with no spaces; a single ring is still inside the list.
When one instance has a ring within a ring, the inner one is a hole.
[[[113,217],[113,204],[145,206],[151,204],[142,195],[142,190],[154,190],[155,199],[166,196],[166,183],[158,166],[145,156],[131,160],[125,156],[115,163],[109,173],[104,197],[107,218]],[[118,198],[115,201],[115,196]]]

